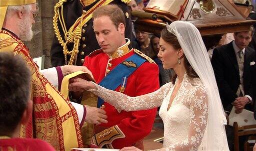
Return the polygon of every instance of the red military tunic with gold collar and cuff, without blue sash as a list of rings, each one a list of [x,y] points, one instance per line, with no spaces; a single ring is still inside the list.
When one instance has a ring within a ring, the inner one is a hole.
[[[128,96],[139,96],[157,90],[159,88],[157,65],[138,50],[132,49],[129,40],[111,56],[108,56],[101,49],[95,50],[85,57],[83,66],[86,66],[92,72],[95,81],[100,83],[106,74],[133,54],[140,55],[147,61],[127,77],[124,89],[120,89],[119,86],[115,91],[121,91]],[[108,123],[94,126],[93,144],[100,148],[114,149],[135,145],[143,150],[142,139],[152,129],[156,109],[125,112],[106,102],[103,103],[101,109],[106,111]]]

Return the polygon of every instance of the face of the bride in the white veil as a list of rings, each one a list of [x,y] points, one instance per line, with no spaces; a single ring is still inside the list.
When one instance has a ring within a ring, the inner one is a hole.
[[[162,61],[164,69],[174,68],[177,65],[178,51],[173,46],[165,42],[162,38],[159,41],[160,50],[157,57]]]

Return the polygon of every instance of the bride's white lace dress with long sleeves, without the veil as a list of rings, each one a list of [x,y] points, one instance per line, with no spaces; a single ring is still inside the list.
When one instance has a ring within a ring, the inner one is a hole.
[[[176,80],[177,82],[177,80]],[[176,83],[175,83],[176,84]],[[155,92],[129,97],[96,85],[89,90],[124,111],[160,107],[159,115],[164,125],[163,151],[196,151],[200,147],[207,124],[207,93],[199,78],[190,79],[185,74],[181,86],[167,111],[173,84],[167,83]]]

